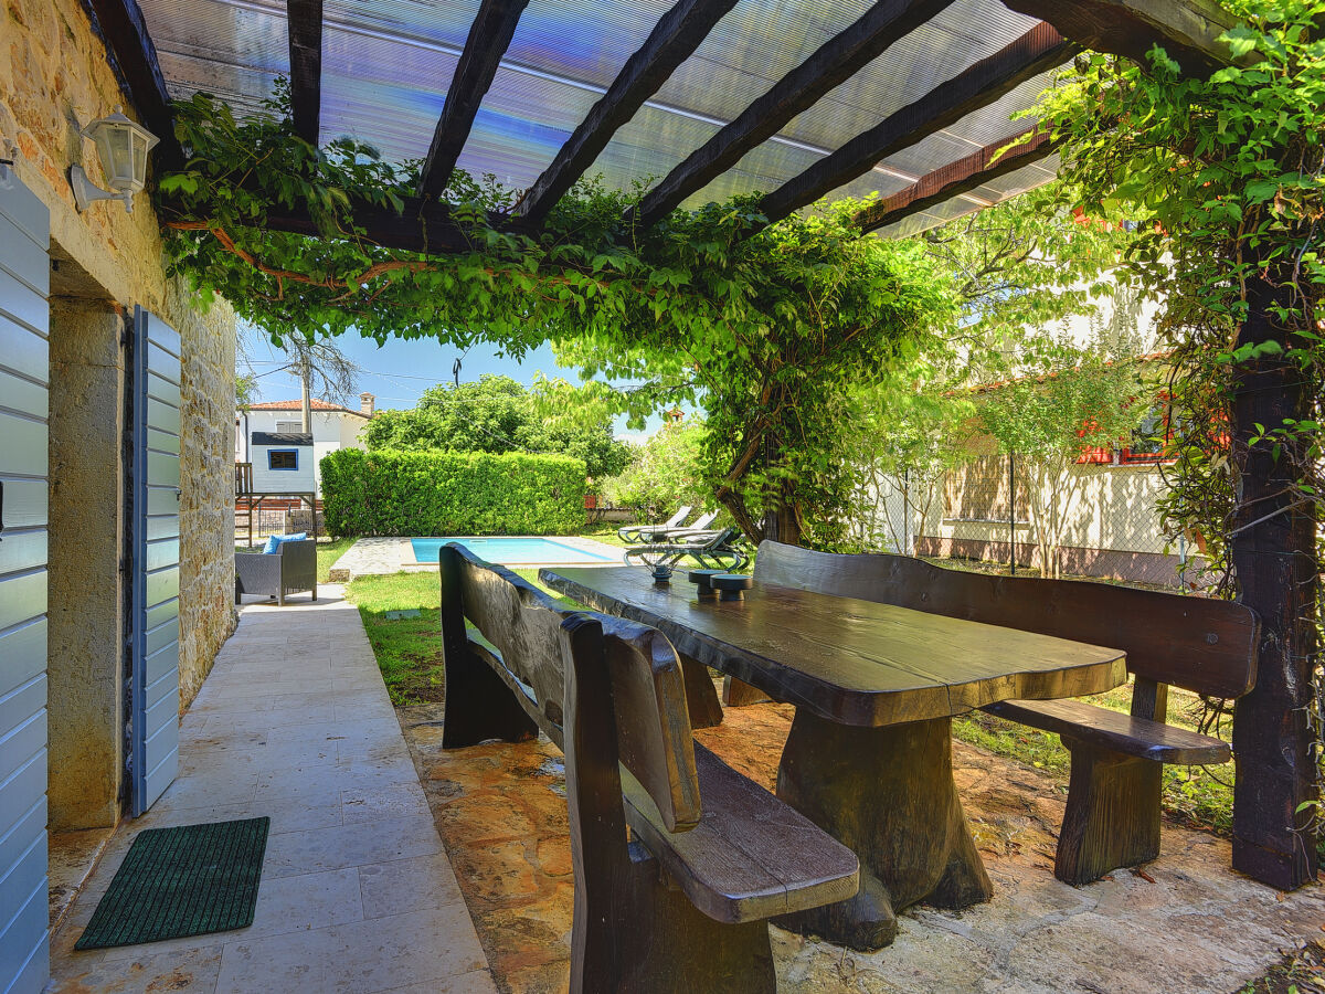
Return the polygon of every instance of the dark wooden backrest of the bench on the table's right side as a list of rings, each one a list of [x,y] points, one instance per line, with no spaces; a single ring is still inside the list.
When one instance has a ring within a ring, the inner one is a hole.
[[[1256,683],[1260,620],[1230,600],[1085,580],[945,570],[884,553],[839,555],[766,541],[755,579],[873,600],[1128,653],[1128,669],[1211,697],[1242,697]]]

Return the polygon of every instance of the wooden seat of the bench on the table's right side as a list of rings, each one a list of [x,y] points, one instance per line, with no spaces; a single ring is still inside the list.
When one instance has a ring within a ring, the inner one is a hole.
[[[1232,758],[1227,742],[1174,728],[1162,721],[1136,718],[1079,700],[999,701],[983,710],[1019,725],[1076,738],[1140,759],[1179,766],[1226,763]]]

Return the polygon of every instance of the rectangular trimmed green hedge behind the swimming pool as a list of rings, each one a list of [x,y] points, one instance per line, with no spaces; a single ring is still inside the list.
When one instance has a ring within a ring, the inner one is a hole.
[[[333,535],[555,535],[584,525],[584,461],[519,452],[322,457]]]

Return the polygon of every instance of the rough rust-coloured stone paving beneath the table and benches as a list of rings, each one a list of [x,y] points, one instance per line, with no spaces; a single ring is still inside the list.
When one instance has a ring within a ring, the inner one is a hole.
[[[771,790],[791,714],[727,709],[696,737]],[[439,704],[400,710],[498,987],[564,991],[574,880],[560,753],[546,740],[443,750],[440,718]],[[1320,885],[1279,895],[1230,869],[1226,839],[1167,822],[1143,875],[1063,884],[1064,783],[963,742],[954,775],[994,900],[913,908],[896,944],[868,954],[772,928],[780,994],[1234,994],[1325,926]]]

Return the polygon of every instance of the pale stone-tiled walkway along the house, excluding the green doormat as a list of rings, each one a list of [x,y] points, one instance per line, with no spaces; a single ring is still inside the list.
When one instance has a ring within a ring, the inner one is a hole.
[[[74,952],[143,828],[272,819],[253,924]],[[359,612],[245,607],[180,725],[180,775],[126,822],[52,941],[50,991],[496,994]]]

